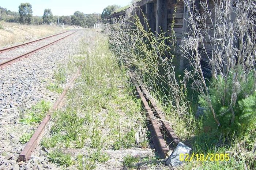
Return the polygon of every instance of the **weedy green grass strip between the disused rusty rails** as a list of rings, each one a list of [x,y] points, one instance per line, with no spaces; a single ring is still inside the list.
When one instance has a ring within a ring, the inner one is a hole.
[[[41,142],[49,159],[69,169],[121,168],[127,165],[122,161],[127,153],[153,159],[145,144],[140,100],[133,98],[129,77],[109,51],[108,40],[94,35],[82,48],[81,76]]]

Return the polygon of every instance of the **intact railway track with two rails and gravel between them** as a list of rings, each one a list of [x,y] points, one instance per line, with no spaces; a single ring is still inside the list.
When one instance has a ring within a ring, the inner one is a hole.
[[[78,30],[77,30],[78,31]],[[4,48],[0,50],[0,68],[4,68],[20,59],[23,59],[42,48],[50,46],[57,41],[64,39],[77,31],[64,31],[55,35],[44,37],[38,40],[19,44],[16,46]],[[71,33],[70,33],[71,32]]]

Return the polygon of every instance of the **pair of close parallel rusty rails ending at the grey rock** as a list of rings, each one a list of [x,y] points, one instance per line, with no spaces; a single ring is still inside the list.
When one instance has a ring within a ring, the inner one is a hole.
[[[165,116],[153,98],[148,95],[146,88],[139,86],[134,79],[132,79],[132,83],[135,84],[136,95],[142,100],[143,108],[146,111],[147,127],[151,132],[151,140],[155,149],[162,158],[166,158],[169,149],[172,146],[177,146],[180,140],[169,122],[165,120]]]

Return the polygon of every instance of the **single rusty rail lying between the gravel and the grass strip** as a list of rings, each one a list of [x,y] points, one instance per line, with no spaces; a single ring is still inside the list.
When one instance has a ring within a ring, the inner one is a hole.
[[[50,113],[53,112],[54,110],[57,110],[58,108],[63,107],[64,105],[64,96],[67,93],[68,89],[71,87],[72,83],[75,81],[76,78],[80,75],[80,68],[76,72],[76,74],[72,77],[72,79],[69,81],[68,86],[64,88],[63,92],[59,96],[59,98],[56,100],[56,102],[53,104],[53,107],[50,109]],[[40,125],[38,126],[37,130],[27,142],[26,146],[22,150],[22,152],[19,155],[18,162],[23,161],[26,162],[31,158],[32,152],[35,150],[37,147],[39,141],[41,140],[42,134],[44,134],[44,128],[46,124],[49,122],[51,115],[47,114],[46,117],[42,120]]]

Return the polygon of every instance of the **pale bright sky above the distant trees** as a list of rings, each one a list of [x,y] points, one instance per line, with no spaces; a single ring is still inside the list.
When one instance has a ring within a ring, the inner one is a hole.
[[[83,13],[102,13],[108,5],[126,6],[131,0],[0,0],[0,6],[18,12],[20,3],[32,5],[33,16],[42,16],[44,9],[52,9],[53,15],[73,15],[75,11]]]

